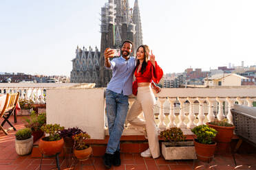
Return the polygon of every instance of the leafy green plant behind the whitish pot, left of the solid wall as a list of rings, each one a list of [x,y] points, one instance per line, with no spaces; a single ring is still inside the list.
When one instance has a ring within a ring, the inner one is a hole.
[[[25,127],[30,127],[32,132],[39,131],[42,125],[46,123],[46,113],[36,114],[34,110],[31,112],[30,117],[26,118],[25,121],[28,123]]]

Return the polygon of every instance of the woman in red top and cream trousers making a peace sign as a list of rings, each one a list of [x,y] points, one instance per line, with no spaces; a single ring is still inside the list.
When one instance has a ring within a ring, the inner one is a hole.
[[[131,106],[127,114],[127,121],[134,125],[138,130],[147,132],[149,140],[149,149],[143,151],[140,156],[158,158],[160,149],[158,143],[158,127],[156,127],[153,107],[156,104],[155,96],[151,89],[151,82],[158,83],[162,78],[162,69],[155,61],[155,56],[149,54],[147,45],[140,45],[136,52],[137,64],[134,71],[136,80],[133,83],[133,93],[136,96],[136,101]],[[154,86],[152,88],[158,93],[160,88]],[[143,111],[145,120],[138,118],[138,115]]]

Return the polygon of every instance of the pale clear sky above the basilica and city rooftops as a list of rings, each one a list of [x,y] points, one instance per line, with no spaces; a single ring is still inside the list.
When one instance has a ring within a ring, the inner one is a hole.
[[[77,45],[100,49],[106,2],[0,0],[0,72],[70,76]],[[255,0],[138,2],[143,42],[164,73],[256,64]]]

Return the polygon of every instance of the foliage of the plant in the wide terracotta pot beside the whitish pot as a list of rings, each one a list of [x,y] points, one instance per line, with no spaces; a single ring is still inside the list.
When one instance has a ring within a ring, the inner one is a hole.
[[[41,130],[45,132],[45,134],[49,134],[49,136],[45,137],[45,141],[58,141],[61,139],[61,135],[59,132],[61,130],[64,130],[64,127],[59,125],[59,124],[48,124],[48,125],[43,125],[41,127]]]

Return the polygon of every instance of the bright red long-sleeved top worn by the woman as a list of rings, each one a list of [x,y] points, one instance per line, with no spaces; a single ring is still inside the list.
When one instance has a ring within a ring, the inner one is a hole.
[[[137,69],[138,67],[134,72],[136,80],[132,84],[132,93],[134,95],[137,95],[138,93],[138,83],[151,82],[153,80],[153,82],[158,84],[163,75],[162,69],[158,66],[157,62],[155,62],[155,66],[153,66],[150,61],[147,61],[147,66],[143,74],[141,72],[137,73]]]

